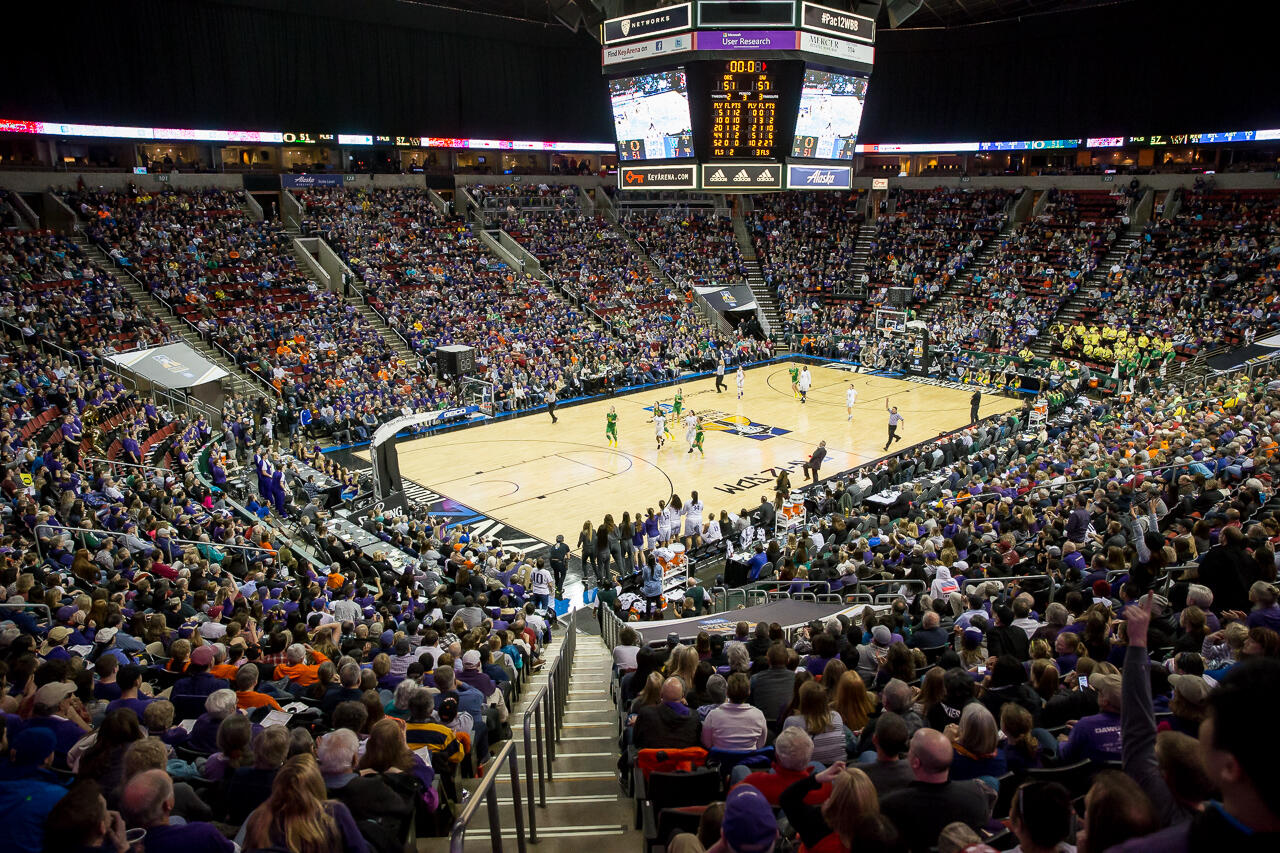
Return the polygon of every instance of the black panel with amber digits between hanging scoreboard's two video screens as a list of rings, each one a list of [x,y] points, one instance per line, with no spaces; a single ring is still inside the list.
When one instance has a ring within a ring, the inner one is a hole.
[[[782,118],[776,65],[763,59],[716,63],[710,91],[709,156],[776,156]]]

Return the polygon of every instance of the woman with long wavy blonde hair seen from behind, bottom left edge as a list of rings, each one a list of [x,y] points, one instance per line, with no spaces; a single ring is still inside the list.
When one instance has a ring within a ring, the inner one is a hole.
[[[242,829],[244,849],[283,848],[291,853],[365,853],[351,812],[328,799],[320,766],[310,754],[284,762],[271,785],[271,797],[253,809]]]

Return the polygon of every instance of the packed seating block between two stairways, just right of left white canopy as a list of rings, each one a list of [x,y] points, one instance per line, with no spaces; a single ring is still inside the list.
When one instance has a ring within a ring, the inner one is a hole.
[[[283,227],[252,222],[233,193],[83,192],[69,201],[91,220],[88,236],[156,298],[294,407],[384,420],[406,398],[438,400],[355,306],[298,270]]]

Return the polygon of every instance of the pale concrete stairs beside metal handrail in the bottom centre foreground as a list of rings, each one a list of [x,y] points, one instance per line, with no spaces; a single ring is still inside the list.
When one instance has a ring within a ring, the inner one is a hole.
[[[586,620],[584,620],[585,622]],[[593,622],[594,626],[594,622]],[[618,726],[617,711],[609,697],[612,654],[596,634],[577,629],[577,648],[570,675],[570,689],[564,712],[564,726],[556,744],[552,777],[545,781],[547,806],[535,809],[538,843],[534,849],[556,853],[600,853],[600,850],[637,850],[643,833],[634,829],[634,802],[622,794],[617,777]],[[559,653],[563,637],[549,647],[548,660]],[[529,788],[525,777],[525,752],[522,716],[539,688],[547,683],[543,672],[535,675],[525,688],[524,697],[511,715],[512,738],[517,743],[522,808],[527,813]],[[532,724],[532,720],[531,720]],[[536,738],[536,730],[534,733]],[[535,758],[534,772],[538,762]],[[538,797],[538,777],[534,794]],[[476,788],[476,780],[463,786]],[[503,850],[516,850],[516,820],[511,798],[511,774],[498,775],[498,815]],[[526,840],[530,836],[525,826]],[[420,853],[445,853],[448,839],[419,839]],[[489,836],[488,808],[481,804],[467,827],[463,850],[480,853],[493,850]]]

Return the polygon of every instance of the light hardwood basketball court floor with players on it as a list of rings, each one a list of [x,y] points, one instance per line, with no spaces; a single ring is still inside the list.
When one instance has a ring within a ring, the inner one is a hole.
[[[698,491],[707,508],[737,512],[772,493],[776,470],[800,466],[819,441],[827,442],[822,476],[884,455],[888,412],[899,407],[905,423],[896,448],[927,441],[969,420],[972,391],[946,388],[810,366],[808,402],[792,396],[787,368],[777,361],[746,371],[742,400],[732,373],[723,393],[714,377],[681,386],[685,411],[703,415],[705,457],[689,453],[684,424],[671,424],[672,438],[657,450],[650,411],[669,407],[676,387],[666,387],[562,407],[558,424],[545,412],[399,444],[401,475],[477,512],[545,542],[564,534],[572,546],[582,523],[593,526],[607,512],[621,520],[657,508],[672,492],[689,500]],[[852,383],[858,403],[846,420],[845,391]],[[983,396],[983,416],[1018,409],[1020,401]],[[618,447],[605,441],[605,414],[618,412]],[[365,453],[361,453],[362,456]]]

